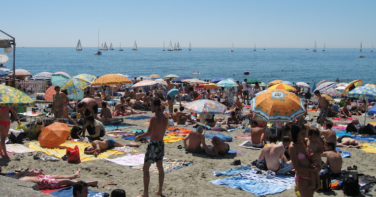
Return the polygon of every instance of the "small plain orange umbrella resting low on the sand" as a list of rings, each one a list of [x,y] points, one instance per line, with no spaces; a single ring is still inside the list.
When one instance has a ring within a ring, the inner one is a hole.
[[[39,144],[45,148],[57,148],[63,144],[70,134],[70,129],[66,123],[54,122],[43,128],[38,136]]]

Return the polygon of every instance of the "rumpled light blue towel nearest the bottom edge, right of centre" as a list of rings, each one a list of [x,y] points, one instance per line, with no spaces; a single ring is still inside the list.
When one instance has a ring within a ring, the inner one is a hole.
[[[240,189],[254,194],[254,196],[264,196],[281,193],[288,188],[271,183],[255,181],[241,176],[231,176],[224,179],[210,181],[215,185],[227,185],[230,188]]]

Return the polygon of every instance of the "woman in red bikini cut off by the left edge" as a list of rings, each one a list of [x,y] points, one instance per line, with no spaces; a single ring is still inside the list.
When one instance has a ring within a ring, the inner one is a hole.
[[[6,160],[10,160],[9,156],[6,154],[6,147],[5,147],[5,139],[8,135],[9,128],[10,128],[10,117],[9,117],[9,110],[12,112],[13,116],[17,118],[18,125],[21,125],[20,119],[17,116],[16,111],[14,111],[13,107],[0,107],[0,154],[2,158]]]

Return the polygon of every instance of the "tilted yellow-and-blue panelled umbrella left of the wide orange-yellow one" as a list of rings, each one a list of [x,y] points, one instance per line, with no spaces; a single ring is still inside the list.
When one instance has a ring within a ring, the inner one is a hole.
[[[95,78],[96,77],[94,75],[79,74],[67,80],[62,85],[61,89],[66,89],[68,95],[76,94],[90,86],[94,82]]]

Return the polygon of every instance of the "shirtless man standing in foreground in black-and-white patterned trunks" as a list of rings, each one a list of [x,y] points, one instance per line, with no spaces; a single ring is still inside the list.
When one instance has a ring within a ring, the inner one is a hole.
[[[154,116],[150,118],[148,131],[134,137],[134,141],[138,142],[140,139],[146,139],[150,136],[150,142],[146,149],[145,161],[142,171],[144,172],[144,192],[137,197],[149,197],[149,168],[153,163],[157,163],[159,172],[159,187],[156,191],[158,196],[162,196],[162,187],[164,181],[163,171],[163,156],[164,156],[164,142],[163,136],[167,128],[168,115],[165,111],[161,112],[161,105],[159,99],[152,99],[150,109]]]

